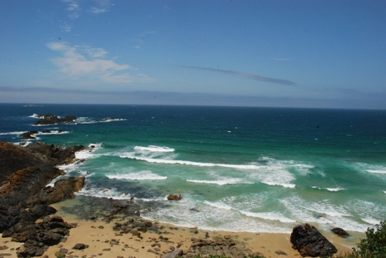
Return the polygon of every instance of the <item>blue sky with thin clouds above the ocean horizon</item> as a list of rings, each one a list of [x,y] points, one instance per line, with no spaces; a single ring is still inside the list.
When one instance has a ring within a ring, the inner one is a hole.
[[[0,102],[386,109],[386,1],[0,1]]]

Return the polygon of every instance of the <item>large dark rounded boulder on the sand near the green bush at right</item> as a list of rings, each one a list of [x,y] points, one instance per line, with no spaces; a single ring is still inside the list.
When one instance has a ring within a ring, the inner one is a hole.
[[[310,224],[302,224],[293,228],[291,244],[292,248],[298,250],[302,257],[330,257],[338,251],[324,235]]]

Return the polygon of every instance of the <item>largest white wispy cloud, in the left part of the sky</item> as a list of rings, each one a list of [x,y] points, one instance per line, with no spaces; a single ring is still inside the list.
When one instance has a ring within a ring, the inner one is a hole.
[[[51,61],[69,77],[92,77],[108,83],[130,83],[133,81],[152,81],[146,75],[132,75],[128,64],[117,64],[106,58],[107,51],[88,46],[70,46],[67,42],[49,42],[47,47],[60,53]]]

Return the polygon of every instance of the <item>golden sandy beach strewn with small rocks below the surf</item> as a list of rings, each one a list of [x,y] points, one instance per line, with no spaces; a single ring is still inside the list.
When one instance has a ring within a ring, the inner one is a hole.
[[[291,248],[289,233],[204,231],[154,221],[147,222],[152,224],[147,231],[138,234],[123,233],[121,229],[117,229],[117,222],[122,224],[130,220],[131,223],[136,223],[144,220],[140,216],[117,218],[110,222],[84,220],[60,211],[61,205],[63,203],[53,205],[58,209],[56,215],[62,216],[66,222],[76,224],[76,227],[70,230],[65,242],[49,247],[43,257],[162,257],[175,249],[184,250],[184,254],[189,253],[198,239],[208,243],[231,241],[234,243],[232,248],[247,250],[249,254],[260,254],[267,258],[301,257],[297,250]],[[152,230],[154,228],[156,231]],[[363,237],[363,234],[354,233],[343,239],[333,233],[322,233],[337,247],[338,254],[350,252]],[[81,248],[84,249],[73,249],[77,244],[83,244]],[[16,257],[16,248],[21,243],[11,242],[8,237],[0,239],[0,246],[6,246],[3,250],[0,249],[0,257]]]

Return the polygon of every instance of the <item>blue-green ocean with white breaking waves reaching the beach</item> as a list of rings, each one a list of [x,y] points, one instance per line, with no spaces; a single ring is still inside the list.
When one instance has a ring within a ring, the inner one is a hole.
[[[34,126],[48,113],[77,120]],[[263,233],[386,219],[386,110],[0,104],[0,141],[32,130],[93,146],[60,178],[86,177],[78,196],[134,197],[143,218]]]

